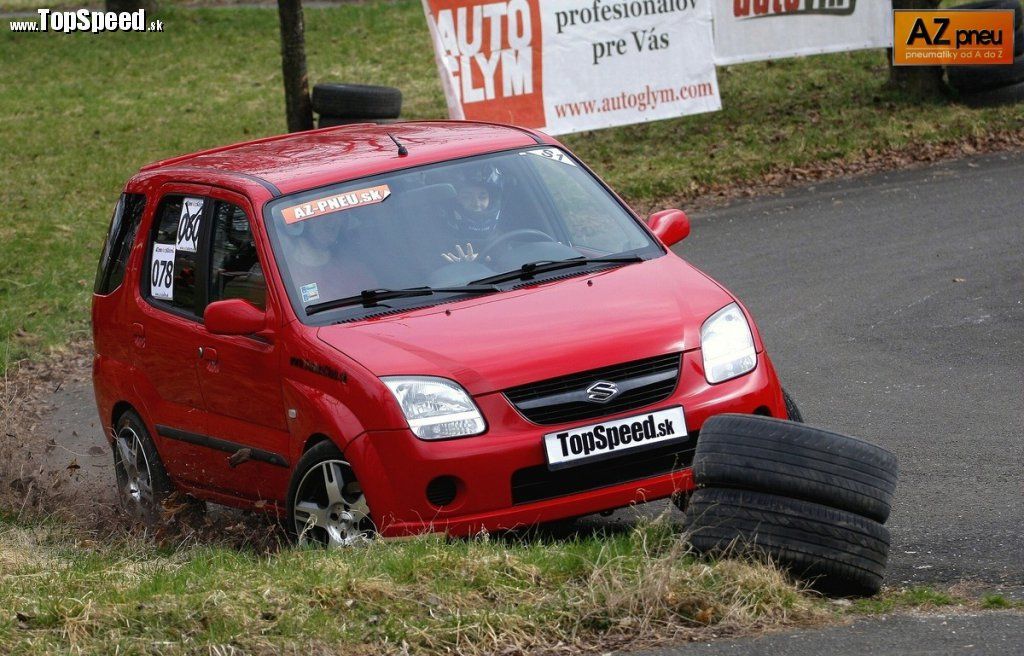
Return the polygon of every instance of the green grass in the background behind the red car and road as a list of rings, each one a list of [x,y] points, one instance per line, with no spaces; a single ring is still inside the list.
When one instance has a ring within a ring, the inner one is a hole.
[[[276,12],[162,11],[162,34],[0,31],[0,367],[88,334],[110,212],[140,165],[284,130]],[[307,9],[313,82],[395,85],[404,116],[444,101],[416,0]],[[641,209],[709,185],[999,130],[1024,108],[915,104],[881,51],[720,70],[725,110],[567,137]]]

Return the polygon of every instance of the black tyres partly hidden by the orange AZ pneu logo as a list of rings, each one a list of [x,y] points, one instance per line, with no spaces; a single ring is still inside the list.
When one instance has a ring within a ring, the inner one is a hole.
[[[947,67],[949,86],[968,104],[987,105],[1024,100],[1024,7],[1020,0],[978,0],[957,9],[1013,9],[1014,62],[1010,64]]]

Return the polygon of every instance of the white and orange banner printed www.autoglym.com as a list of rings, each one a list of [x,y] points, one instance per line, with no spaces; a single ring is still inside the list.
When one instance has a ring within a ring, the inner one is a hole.
[[[423,0],[449,116],[564,134],[722,104],[711,0]]]

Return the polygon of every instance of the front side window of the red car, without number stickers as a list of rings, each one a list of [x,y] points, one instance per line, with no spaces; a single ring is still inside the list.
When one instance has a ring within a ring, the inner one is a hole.
[[[210,302],[244,299],[266,308],[266,282],[256,256],[256,240],[245,211],[230,203],[213,206]]]

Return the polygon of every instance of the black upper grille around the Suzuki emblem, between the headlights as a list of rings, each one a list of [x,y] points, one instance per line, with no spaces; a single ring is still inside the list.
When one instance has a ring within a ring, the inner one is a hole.
[[[679,353],[553,378],[514,387],[505,397],[535,424],[551,425],[606,417],[663,401],[676,389]],[[607,403],[587,399],[587,388],[598,381],[615,383],[623,391]]]

